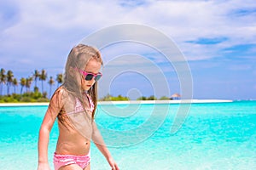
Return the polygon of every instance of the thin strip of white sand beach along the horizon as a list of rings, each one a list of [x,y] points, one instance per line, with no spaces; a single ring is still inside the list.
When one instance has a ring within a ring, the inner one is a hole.
[[[99,101],[98,105],[130,105],[130,104],[200,104],[200,103],[230,103],[231,99],[174,99],[174,100],[128,100],[128,101]],[[42,103],[0,103],[1,106],[47,106]]]

